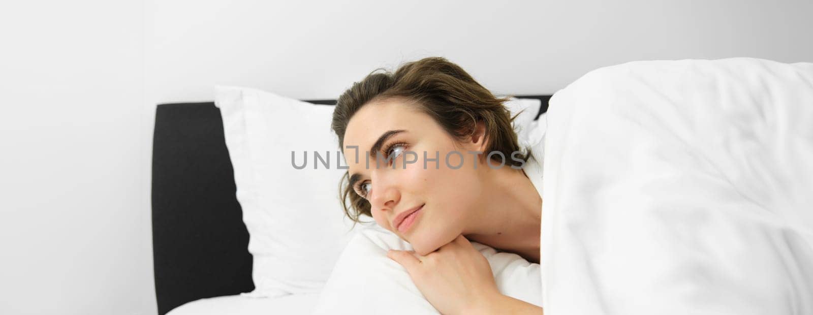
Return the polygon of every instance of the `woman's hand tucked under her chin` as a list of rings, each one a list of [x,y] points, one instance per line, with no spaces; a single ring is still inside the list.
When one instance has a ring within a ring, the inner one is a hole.
[[[502,297],[489,261],[463,235],[426,256],[390,250],[387,257],[406,268],[415,286],[440,313],[475,312]]]

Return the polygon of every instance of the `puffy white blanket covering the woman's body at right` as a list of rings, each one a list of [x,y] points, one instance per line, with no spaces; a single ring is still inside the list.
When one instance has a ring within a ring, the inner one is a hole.
[[[813,314],[813,63],[626,63],[547,116],[547,315]]]

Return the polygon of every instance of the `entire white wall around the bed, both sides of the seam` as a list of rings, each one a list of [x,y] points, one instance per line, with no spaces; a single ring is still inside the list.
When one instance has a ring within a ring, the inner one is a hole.
[[[0,313],[155,313],[154,105],[335,98],[450,58],[495,93],[641,59],[813,61],[810,1],[40,1],[0,7]]]

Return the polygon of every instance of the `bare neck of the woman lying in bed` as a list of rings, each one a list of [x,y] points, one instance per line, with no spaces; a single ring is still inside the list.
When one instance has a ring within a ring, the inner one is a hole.
[[[485,166],[481,170],[481,206],[472,212],[463,235],[538,263],[542,216],[539,192],[523,170],[508,166]]]

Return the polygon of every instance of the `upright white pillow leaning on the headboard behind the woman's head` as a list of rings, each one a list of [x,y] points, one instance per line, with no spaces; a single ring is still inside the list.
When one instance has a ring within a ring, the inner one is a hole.
[[[339,200],[346,170],[337,163],[347,164],[330,129],[334,106],[232,86],[215,88],[215,106],[254,256],[255,289],[246,296],[319,292],[353,235]],[[506,106],[524,110],[515,120],[520,131],[541,103],[512,99]]]

